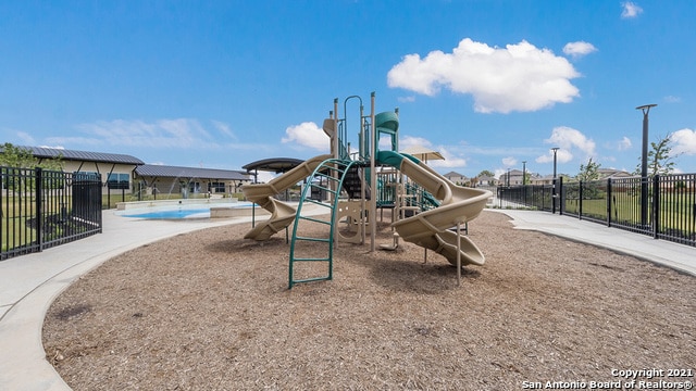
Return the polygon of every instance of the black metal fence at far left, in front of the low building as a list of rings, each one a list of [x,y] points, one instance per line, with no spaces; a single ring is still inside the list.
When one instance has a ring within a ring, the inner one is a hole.
[[[0,260],[99,234],[101,176],[0,167]]]

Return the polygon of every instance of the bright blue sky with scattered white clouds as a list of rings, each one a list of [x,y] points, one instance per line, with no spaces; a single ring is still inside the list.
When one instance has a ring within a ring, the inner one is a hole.
[[[632,172],[648,103],[695,173],[695,86],[693,0],[0,3],[2,141],[149,164],[309,159],[374,91],[440,173]]]

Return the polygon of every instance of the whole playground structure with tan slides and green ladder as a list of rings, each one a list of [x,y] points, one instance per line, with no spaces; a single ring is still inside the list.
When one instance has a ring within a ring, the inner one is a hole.
[[[348,142],[347,102],[360,102],[358,121],[359,148],[350,151]],[[364,114],[362,99],[351,96],[344,101],[344,118],[338,118],[338,99],[324,119],[323,130],[331,140],[331,154],[304,161],[268,184],[245,185],[247,200],[271,213],[259,222],[245,238],[269,240],[294,224],[289,254],[289,288],[299,282],[333,278],[333,250],[336,241],[364,244],[370,238],[370,251],[375,251],[377,209],[391,210],[394,243],[383,249],[396,249],[399,239],[432,250],[457,266],[458,281],[461,266],[483,265],[481,250],[462,235],[462,225],[472,220],[486,205],[492,193],[487,190],[455,185],[417,157],[398,152],[398,111],[375,114],[375,94],[371,93],[371,110]],[[380,150],[380,144],[388,144]],[[278,201],[282,193],[307,180],[297,209]],[[328,197],[324,201],[324,195]],[[303,206],[315,204],[326,209],[328,219],[303,213]],[[328,234],[322,237],[301,236],[304,224],[324,225]],[[336,226],[346,224],[339,231]],[[348,232],[349,235],[345,235]],[[318,249],[322,249],[318,251]],[[316,254],[319,252],[319,255]],[[296,268],[303,263],[324,263],[321,276],[296,277]]]

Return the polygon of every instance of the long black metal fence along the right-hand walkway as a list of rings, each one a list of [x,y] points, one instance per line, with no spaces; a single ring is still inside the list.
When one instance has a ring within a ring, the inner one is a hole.
[[[696,247],[696,174],[573,182],[559,178],[557,185],[499,187],[497,195],[508,204]]]

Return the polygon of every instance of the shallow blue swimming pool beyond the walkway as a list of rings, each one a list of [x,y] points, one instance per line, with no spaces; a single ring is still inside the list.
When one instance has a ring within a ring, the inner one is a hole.
[[[133,218],[150,219],[185,219],[210,218],[211,207],[215,209],[251,209],[250,202],[211,203],[211,204],[182,204],[164,206],[147,206],[117,211],[116,215]]]

